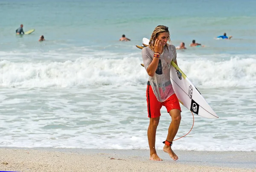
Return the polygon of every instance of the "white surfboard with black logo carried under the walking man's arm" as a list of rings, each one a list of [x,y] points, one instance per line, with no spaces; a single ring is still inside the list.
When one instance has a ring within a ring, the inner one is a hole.
[[[144,40],[143,44],[149,42],[149,40],[148,42],[145,41],[147,40]],[[218,118],[218,115],[216,115],[216,113],[212,110],[207,101],[204,99],[198,89],[192,84],[189,78],[173,61],[171,64],[170,77],[172,87],[179,99],[179,102],[191,112],[199,116],[205,118]]]

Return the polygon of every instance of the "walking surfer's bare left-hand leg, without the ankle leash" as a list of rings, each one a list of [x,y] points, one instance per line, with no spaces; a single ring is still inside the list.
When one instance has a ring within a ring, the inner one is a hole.
[[[149,126],[148,126],[148,145],[150,149],[150,160],[154,161],[162,161],[157,155],[157,151],[155,149],[156,143],[156,132],[157,126],[159,123],[160,117],[157,118],[149,118]]]

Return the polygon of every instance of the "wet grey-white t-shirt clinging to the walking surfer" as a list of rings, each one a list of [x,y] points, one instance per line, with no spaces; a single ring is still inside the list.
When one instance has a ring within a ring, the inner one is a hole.
[[[154,52],[149,47],[142,49],[142,59],[146,70],[153,58]],[[174,94],[170,80],[170,69],[171,62],[176,61],[176,58],[177,53],[175,46],[168,44],[168,49],[165,47],[163,53],[160,55],[154,76],[149,76],[150,85],[159,102],[164,102]]]

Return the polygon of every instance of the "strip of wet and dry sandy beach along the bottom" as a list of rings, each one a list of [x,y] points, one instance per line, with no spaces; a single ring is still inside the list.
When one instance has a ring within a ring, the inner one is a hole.
[[[161,162],[148,160],[148,150],[0,149],[0,170],[16,172],[256,172],[256,152],[175,151],[178,161],[162,150]]]

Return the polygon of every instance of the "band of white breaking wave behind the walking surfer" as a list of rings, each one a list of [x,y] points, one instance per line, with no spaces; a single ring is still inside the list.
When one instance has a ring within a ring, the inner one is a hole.
[[[66,56],[68,58],[71,54],[66,54]],[[140,66],[142,60],[141,57],[136,57],[138,54],[104,53],[104,58],[102,56],[102,53],[98,53],[94,54],[94,57],[60,61],[12,62],[1,60],[0,85],[19,88],[70,88],[136,85],[146,82],[148,76],[145,69]],[[205,58],[191,60],[181,57],[178,64],[196,86],[221,88],[254,87],[256,85],[255,58],[230,57],[228,60],[215,62]]]

